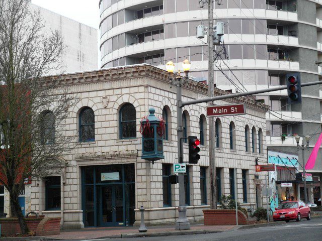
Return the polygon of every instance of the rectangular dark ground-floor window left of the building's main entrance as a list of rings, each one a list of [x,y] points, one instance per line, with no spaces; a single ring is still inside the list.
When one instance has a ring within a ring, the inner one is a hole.
[[[46,210],[60,209],[60,176],[45,177]]]

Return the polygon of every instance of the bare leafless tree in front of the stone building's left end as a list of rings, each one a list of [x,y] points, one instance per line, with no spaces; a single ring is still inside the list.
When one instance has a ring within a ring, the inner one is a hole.
[[[57,77],[63,39],[46,33],[40,12],[28,0],[0,0],[0,184],[22,233],[28,233],[18,203],[26,180],[66,165],[71,137],[65,119],[73,98]]]

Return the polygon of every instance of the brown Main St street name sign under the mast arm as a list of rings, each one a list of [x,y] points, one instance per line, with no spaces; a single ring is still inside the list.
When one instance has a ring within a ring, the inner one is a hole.
[[[215,105],[207,107],[207,117],[246,114],[244,104]]]

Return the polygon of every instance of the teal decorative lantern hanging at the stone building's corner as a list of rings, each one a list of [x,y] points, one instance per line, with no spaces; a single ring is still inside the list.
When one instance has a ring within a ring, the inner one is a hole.
[[[149,108],[149,115],[141,120],[142,159],[152,162],[164,159],[163,135],[165,135],[165,121],[154,115],[155,109]]]

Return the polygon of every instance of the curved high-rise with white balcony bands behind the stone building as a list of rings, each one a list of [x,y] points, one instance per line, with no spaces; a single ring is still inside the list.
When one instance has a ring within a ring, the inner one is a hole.
[[[188,58],[191,76],[207,79],[207,39],[196,38],[196,27],[207,25],[208,10],[200,9],[198,0],[102,0],[100,10],[102,68],[147,63],[164,69],[172,60],[178,70]],[[213,18],[225,23],[215,55],[218,88],[285,85],[291,72],[300,72],[302,83],[321,78],[322,0],[217,0]],[[315,144],[321,132],[320,87],[302,88],[299,104],[287,103],[286,90],[256,98],[271,106],[264,127],[269,150],[296,153],[296,134],[310,135],[310,147]],[[310,152],[304,153],[306,159]],[[318,162],[311,172],[321,170]]]

